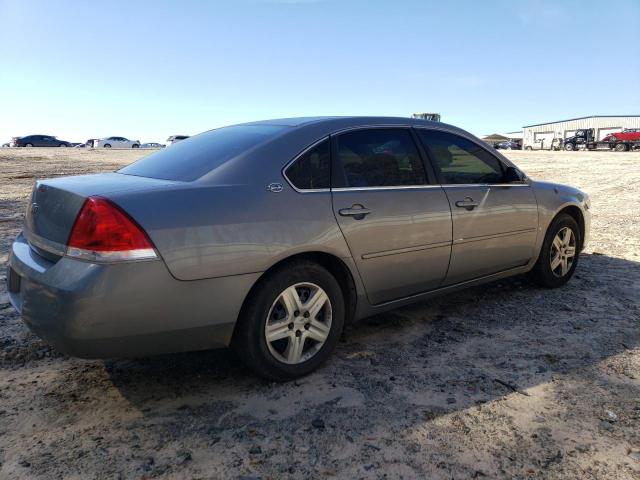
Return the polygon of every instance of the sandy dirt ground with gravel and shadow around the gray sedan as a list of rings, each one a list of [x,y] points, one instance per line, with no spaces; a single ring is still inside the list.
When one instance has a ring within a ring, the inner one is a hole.
[[[359,322],[287,384],[227,350],[68,358],[8,304],[34,179],[143,154],[0,149],[0,478],[640,479],[640,153],[509,153],[591,195],[573,280],[518,277]]]

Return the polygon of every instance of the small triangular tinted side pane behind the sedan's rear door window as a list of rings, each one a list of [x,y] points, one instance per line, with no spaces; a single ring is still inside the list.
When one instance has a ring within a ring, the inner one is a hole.
[[[329,188],[331,165],[329,140],[300,156],[285,171],[289,181],[300,190]]]

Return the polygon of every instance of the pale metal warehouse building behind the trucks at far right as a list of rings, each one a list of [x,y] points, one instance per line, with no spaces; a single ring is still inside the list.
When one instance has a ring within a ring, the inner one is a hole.
[[[640,115],[594,115],[572,118],[550,123],[527,125],[523,128],[523,148],[551,148],[554,138],[564,140],[573,136],[576,130],[593,128],[597,140],[610,133],[620,132],[624,128],[640,128]]]

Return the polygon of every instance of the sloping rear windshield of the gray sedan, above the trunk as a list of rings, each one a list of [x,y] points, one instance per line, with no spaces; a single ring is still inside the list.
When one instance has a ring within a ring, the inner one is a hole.
[[[139,177],[190,182],[275,137],[281,125],[236,125],[201,133],[118,170]]]

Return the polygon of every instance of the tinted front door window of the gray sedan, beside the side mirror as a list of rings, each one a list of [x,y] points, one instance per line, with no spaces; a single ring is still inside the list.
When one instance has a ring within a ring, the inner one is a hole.
[[[443,183],[504,183],[502,163],[479,145],[452,133],[418,132]]]

